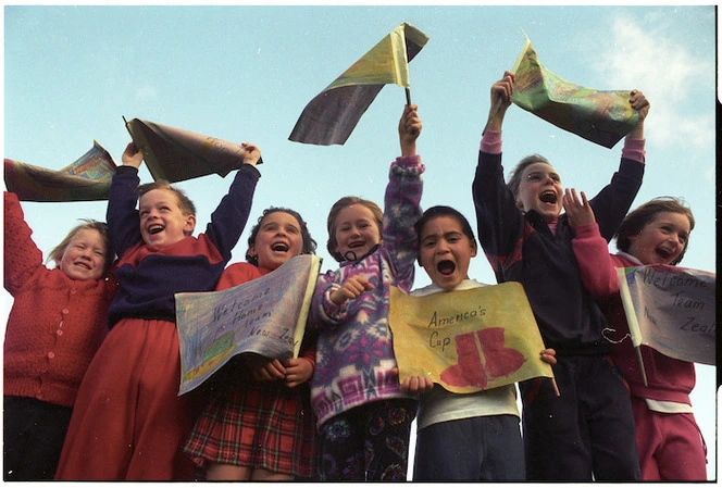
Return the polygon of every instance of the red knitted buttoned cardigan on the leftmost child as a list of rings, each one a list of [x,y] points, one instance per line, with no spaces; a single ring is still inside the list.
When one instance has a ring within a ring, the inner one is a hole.
[[[73,406],[108,331],[115,278],[74,280],[42,264],[14,193],[4,193],[4,287],[13,296],[3,355],[5,396]]]

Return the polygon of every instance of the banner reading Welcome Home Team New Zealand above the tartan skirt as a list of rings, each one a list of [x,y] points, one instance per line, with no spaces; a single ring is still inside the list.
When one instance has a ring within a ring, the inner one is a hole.
[[[254,352],[297,358],[321,258],[291,258],[277,270],[222,291],[176,293],[180,389],[187,393],[231,358]]]

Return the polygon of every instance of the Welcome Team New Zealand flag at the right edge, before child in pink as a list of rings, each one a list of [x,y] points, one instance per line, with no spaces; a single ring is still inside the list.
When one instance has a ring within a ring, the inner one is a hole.
[[[619,267],[617,277],[635,347],[645,345],[670,358],[715,364],[713,273],[649,264]]]

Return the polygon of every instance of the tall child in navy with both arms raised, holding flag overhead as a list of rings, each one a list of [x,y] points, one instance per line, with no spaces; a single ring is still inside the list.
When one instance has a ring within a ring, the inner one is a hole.
[[[526,454],[532,480],[638,479],[634,418],[628,393],[607,354],[605,318],[582,285],[574,236],[561,213],[558,173],[538,154],[525,158],[509,182],[501,167],[501,123],[511,103],[511,73],[491,87],[491,114],[482,139],[473,198],[478,236],[497,280],[520,281],[546,347],[560,397],[549,381],[520,383]],[[634,200],[644,173],[644,118],[649,103],[632,90],[639,122],[626,136],[619,172],[590,201],[599,228],[611,239]]]

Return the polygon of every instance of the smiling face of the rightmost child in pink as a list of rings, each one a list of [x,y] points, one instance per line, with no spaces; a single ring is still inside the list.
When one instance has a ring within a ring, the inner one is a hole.
[[[630,254],[643,264],[670,264],[689,239],[689,218],[676,212],[659,212],[637,236],[631,236]]]

